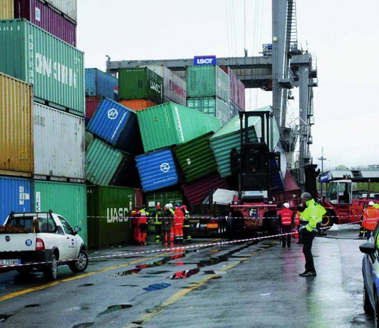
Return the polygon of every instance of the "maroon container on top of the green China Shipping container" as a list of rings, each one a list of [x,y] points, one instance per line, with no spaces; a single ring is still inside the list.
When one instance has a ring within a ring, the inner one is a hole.
[[[76,25],[38,0],[15,0],[15,18],[25,18],[76,46]]]

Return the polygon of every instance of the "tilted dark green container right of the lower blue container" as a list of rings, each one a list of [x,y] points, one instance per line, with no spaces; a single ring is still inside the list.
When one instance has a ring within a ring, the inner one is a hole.
[[[216,159],[209,146],[212,134],[207,133],[174,148],[186,183],[217,171]]]

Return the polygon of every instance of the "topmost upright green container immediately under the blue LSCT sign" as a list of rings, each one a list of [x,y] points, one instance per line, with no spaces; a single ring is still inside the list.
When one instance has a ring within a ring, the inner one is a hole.
[[[187,66],[187,98],[218,97],[229,102],[229,75],[216,65]]]

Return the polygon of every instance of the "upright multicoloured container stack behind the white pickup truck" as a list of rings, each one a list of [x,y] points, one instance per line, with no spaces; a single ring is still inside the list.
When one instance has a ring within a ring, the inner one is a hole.
[[[12,210],[51,209],[80,226],[87,243],[84,54],[74,48],[77,2],[5,3],[9,10],[2,18],[9,20],[0,21],[0,71],[8,75],[0,75],[0,107],[5,109],[0,223]]]

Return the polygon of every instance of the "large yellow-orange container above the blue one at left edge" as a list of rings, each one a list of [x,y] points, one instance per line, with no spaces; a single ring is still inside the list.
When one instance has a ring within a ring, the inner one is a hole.
[[[30,84],[0,73],[0,174],[33,174],[32,100]]]

